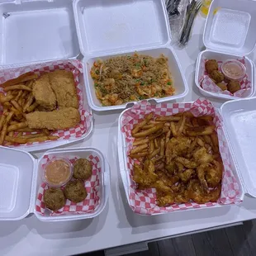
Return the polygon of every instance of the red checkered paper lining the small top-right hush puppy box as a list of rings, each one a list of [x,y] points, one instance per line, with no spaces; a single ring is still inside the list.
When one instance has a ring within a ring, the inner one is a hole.
[[[236,60],[239,60],[239,62],[241,62],[245,66],[244,58],[236,59]],[[229,92],[228,90],[222,91],[216,85],[216,83],[214,83],[211,80],[211,78],[209,77],[209,74],[206,72],[206,67],[205,67],[206,66],[206,61],[207,61],[207,59],[202,59],[201,60],[202,76],[199,80],[199,83],[201,84],[201,88],[203,88],[207,92],[216,92],[216,93],[226,94],[226,95],[230,95],[230,96],[234,96],[234,97],[246,97],[247,96],[247,94],[249,93],[249,91],[251,89],[251,81],[249,81],[247,73],[245,74],[244,78],[241,81],[239,81],[239,84],[240,84],[240,87],[241,87],[241,89],[239,91],[235,92],[234,94]],[[222,63],[223,63],[222,61],[218,61],[219,70],[220,70],[220,66],[221,66]]]

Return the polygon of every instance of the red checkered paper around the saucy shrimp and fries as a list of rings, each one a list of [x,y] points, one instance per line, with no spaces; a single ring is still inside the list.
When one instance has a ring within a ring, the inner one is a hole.
[[[224,164],[224,172],[221,184],[220,199],[216,202],[207,202],[205,204],[197,204],[196,202],[188,202],[184,204],[173,204],[171,206],[157,206],[156,192],[154,188],[147,190],[138,190],[136,183],[133,181],[133,166],[134,159],[130,159],[129,152],[132,148],[132,143],[135,140],[131,135],[133,127],[141,121],[146,114],[154,112],[154,116],[172,116],[184,111],[191,111],[194,116],[213,116],[213,122],[216,126],[216,132],[219,138],[220,154]],[[243,190],[239,183],[239,178],[234,169],[231,168],[230,150],[225,139],[223,125],[219,112],[213,107],[211,102],[205,98],[199,98],[193,103],[161,103],[150,105],[149,102],[140,102],[135,104],[124,112],[121,118],[121,132],[126,141],[126,163],[127,172],[129,172],[128,186],[129,189],[129,204],[133,211],[143,215],[163,214],[171,211],[187,210],[192,208],[202,208],[210,206],[221,206],[228,204],[237,204],[242,201]],[[128,176],[128,175],[127,175]]]

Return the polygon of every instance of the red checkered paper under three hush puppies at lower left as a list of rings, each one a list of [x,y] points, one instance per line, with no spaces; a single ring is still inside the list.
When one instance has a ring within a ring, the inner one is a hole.
[[[47,164],[51,159],[54,159],[53,155],[45,155],[42,161],[40,162],[40,170],[45,168],[45,164]],[[77,157],[68,158],[69,161],[73,164]],[[102,172],[102,164],[97,155],[89,155],[87,158],[92,164],[92,176],[88,180],[84,182],[84,187],[88,192],[88,196],[81,202],[75,203],[67,199],[66,204],[63,208],[58,211],[50,211],[46,209],[44,202],[44,193],[49,188],[46,183],[42,183],[39,187],[37,199],[36,199],[36,212],[41,216],[59,216],[59,215],[67,215],[67,214],[84,214],[84,213],[92,213],[97,210],[100,205],[100,187],[101,185],[101,172]],[[64,189],[64,187],[62,187]],[[47,211],[46,211],[47,210]]]

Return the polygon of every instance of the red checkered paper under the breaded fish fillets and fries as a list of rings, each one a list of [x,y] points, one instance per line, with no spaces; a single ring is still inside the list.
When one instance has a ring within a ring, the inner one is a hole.
[[[58,140],[72,140],[75,138],[79,138],[84,135],[92,123],[92,112],[85,109],[83,102],[86,100],[83,98],[83,90],[85,89],[83,83],[81,83],[79,76],[83,73],[83,65],[80,60],[73,59],[73,60],[59,60],[59,61],[50,61],[40,64],[31,64],[28,66],[22,66],[18,68],[11,68],[11,69],[1,69],[0,70],[0,83],[4,83],[7,80],[12,78],[19,77],[22,73],[33,72],[37,75],[41,75],[43,73],[49,73],[58,69],[71,71],[73,73],[73,78],[75,81],[75,86],[77,89],[78,94],[78,101],[79,101],[79,112],[81,116],[81,121],[78,126],[69,128],[67,130],[55,130],[51,133],[51,135],[59,136]],[[3,92],[3,89],[0,87],[0,92]],[[0,104],[0,114],[2,113],[2,106]],[[31,134],[30,132],[26,132],[24,134]],[[14,135],[15,136],[15,135]],[[49,143],[49,141],[43,142],[34,142],[34,143],[27,143],[26,146],[29,145],[41,145]],[[55,141],[51,141],[50,143],[55,143]],[[12,145],[10,147],[23,147],[24,145]]]

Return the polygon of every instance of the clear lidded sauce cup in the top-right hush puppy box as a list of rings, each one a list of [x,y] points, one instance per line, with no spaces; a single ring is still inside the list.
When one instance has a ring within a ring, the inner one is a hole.
[[[246,68],[239,60],[228,59],[221,65],[221,72],[225,78],[230,80],[241,80],[244,78]]]

